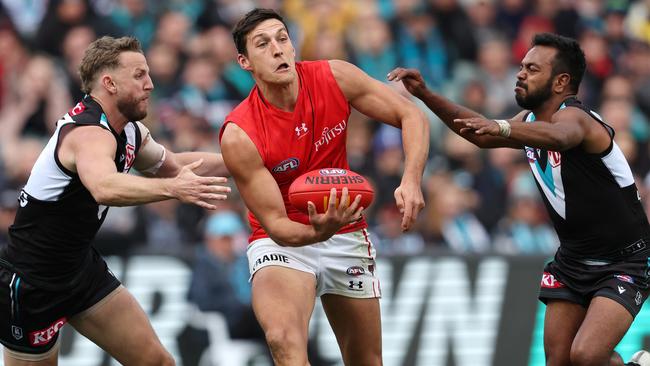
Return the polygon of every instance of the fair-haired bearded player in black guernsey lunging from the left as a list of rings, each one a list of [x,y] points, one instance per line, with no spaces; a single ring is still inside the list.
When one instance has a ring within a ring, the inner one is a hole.
[[[68,323],[123,365],[173,365],[91,242],[109,206],[178,199],[215,209],[227,171],[220,154],[173,153],[139,122],[153,84],[135,38],[96,40],[79,73],[86,96],[57,122],[0,254],[4,364],[56,365]]]

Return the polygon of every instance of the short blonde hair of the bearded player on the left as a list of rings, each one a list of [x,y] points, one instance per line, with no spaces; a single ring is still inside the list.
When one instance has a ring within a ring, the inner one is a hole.
[[[122,52],[142,52],[140,41],[134,37],[113,38],[104,36],[91,43],[79,65],[81,91],[90,94],[97,74],[119,66]]]

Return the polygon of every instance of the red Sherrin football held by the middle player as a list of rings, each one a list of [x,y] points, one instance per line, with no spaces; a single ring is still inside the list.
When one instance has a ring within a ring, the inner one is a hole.
[[[348,188],[350,200],[361,195],[359,206],[368,208],[375,191],[362,175],[340,168],[317,169],[307,172],[293,181],[289,187],[289,201],[298,210],[307,213],[307,202],[316,205],[316,211],[327,210],[330,190],[336,188],[336,200],[341,199],[343,187]]]

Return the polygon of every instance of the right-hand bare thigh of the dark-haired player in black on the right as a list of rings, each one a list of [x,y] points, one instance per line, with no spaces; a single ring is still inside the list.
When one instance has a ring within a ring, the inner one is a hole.
[[[594,297],[572,345],[574,353],[608,359],[634,318],[625,306],[602,296]]]

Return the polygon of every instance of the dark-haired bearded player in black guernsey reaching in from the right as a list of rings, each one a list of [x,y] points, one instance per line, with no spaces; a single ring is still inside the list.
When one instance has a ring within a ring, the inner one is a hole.
[[[648,219],[614,130],[576,97],[585,65],[575,40],[537,34],[514,90],[524,110],[509,120],[448,101],[417,70],[388,74],[475,145],[525,151],[560,239],[539,293],[548,366],[623,365],[614,347],[648,296]],[[628,364],[648,359],[639,351]]]

